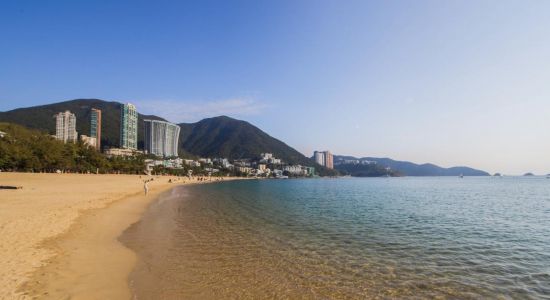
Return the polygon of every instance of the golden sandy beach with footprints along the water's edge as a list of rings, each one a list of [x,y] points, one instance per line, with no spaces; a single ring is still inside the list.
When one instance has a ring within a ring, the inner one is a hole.
[[[0,173],[0,299],[128,299],[136,257],[117,240],[183,180],[138,175]]]

